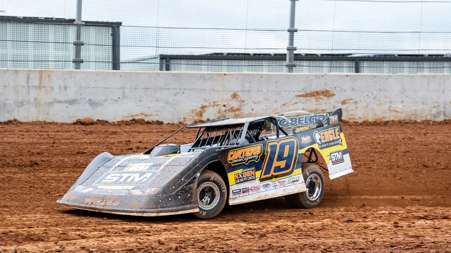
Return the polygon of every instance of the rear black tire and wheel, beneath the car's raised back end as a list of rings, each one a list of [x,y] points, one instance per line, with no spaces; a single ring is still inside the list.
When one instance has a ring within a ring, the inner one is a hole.
[[[307,191],[286,195],[285,199],[294,208],[317,207],[324,195],[325,184],[323,173],[317,164],[304,163],[302,164],[302,176]]]

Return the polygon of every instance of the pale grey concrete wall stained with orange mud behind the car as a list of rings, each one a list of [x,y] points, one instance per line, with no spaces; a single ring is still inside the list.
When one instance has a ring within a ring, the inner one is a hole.
[[[0,121],[164,122],[343,108],[348,120],[451,118],[451,75],[0,69]]]

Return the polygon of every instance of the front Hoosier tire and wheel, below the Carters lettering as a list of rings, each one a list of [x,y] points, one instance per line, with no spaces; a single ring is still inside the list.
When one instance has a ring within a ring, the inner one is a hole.
[[[197,180],[197,201],[199,219],[211,219],[219,215],[227,202],[227,186],[221,176],[210,170],[204,170]]]

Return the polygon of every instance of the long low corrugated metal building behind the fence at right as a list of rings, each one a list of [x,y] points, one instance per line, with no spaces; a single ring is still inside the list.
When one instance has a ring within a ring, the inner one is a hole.
[[[285,54],[160,55],[159,70],[287,72]],[[451,55],[295,55],[295,73],[451,73]]]

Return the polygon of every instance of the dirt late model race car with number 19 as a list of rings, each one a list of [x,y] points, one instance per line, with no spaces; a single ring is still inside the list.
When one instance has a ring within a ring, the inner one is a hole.
[[[292,116],[289,116],[292,115]],[[184,126],[193,143],[161,144],[144,153],[95,157],[58,204],[97,212],[208,219],[230,205],[285,196],[293,207],[317,206],[324,178],[352,173],[341,109],[225,118]],[[327,168],[317,164],[318,153]],[[304,157],[304,161],[303,161]]]

